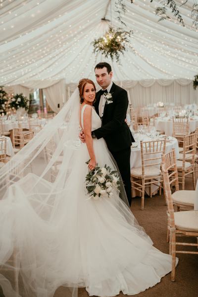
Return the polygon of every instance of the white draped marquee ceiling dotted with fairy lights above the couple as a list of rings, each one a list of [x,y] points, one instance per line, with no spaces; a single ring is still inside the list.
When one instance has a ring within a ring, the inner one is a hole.
[[[198,30],[191,29],[189,0],[180,7],[185,27],[173,17],[158,22],[158,1],[126,0],[123,21],[114,0],[0,0],[0,85],[52,85],[60,79],[94,79],[94,66],[105,60],[114,80],[193,79],[198,74]],[[184,1],[177,1],[180,5]],[[133,30],[130,49],[120,63],[93,54],[91,42],[108,27]]]

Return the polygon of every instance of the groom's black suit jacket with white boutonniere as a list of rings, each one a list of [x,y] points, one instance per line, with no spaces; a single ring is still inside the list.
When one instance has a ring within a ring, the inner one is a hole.
[[[112,84],[110,93],[112,95],[112,99],[110,100],[113,102],[109,104],[107,102],[105,103],[101,128],[93,132],[98,139],[101,137],[104,138],[110,152],[118,152],[129,148],[132,142],[134,142],[129,126],[125,122],[129,101],[127,91],[114,83]],[[96,102],[94,104],[98,115],[99,100],[100,91],[96,93]]]

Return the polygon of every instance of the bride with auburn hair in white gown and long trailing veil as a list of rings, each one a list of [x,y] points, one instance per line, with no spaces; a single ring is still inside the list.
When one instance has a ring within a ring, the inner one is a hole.
[[[111,198],[88,199],[88,170],[97,163],[117,169],[104,140],[91,137],[101,125],[92,106],[95,84],[81,79],[78,88],[0,170],[5,297],[53,297],[59,286],[66,297],[77,297],[79,287],[90,296],[135,295],[171,271],[170,255],[152,246],[127,206],[123,186]],[[79,141],[79,124],[86,143]]]

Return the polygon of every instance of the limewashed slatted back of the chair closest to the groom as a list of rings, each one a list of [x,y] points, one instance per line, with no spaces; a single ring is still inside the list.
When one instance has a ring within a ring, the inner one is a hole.
[[[141,141],[142,176],[145,176],[146,167],[161,166],[161,157],[165,154],[166,139]]]

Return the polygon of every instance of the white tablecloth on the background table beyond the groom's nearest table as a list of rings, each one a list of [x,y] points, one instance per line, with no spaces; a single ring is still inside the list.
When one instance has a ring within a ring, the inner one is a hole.
[[[172,136],[173,133],[173,121],[172,119],[155,119],[154,122],[155,128],[157,130],[164,131],[167,136]],[[189,120],[189,131],[193,132],[198,127],[198,118]]]

